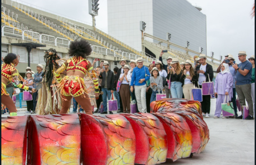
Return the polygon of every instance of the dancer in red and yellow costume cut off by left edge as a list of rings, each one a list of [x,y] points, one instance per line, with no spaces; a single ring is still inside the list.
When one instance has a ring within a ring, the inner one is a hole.
[[[20,75],[19,71],[15,68],[15,66],[19,63],[19,57],[14,53],[9,53],[4,58],[4,63],[1,65],[1,103],[3,103],[10,112],[10,116],[17,116],[16,106],[9,94],[6,92],[6,85],[10,83],[14,83],[17,88],[29,90],[35,92],[35,89],[24,86],[21,84],[21,81],[25,81]]]

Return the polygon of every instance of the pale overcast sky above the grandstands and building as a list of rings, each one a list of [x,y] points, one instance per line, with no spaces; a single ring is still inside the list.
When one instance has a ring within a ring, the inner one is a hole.
[[[70,0],[23,1],[92,23],[92,17],[88,14],[88,0],[72,0],[72,3]],[[219,59],[220,55],[228,53],[236,56],[239,51],[247,51],[248,56],[255,54],[255,20],[250,16],[254,0],[188,1],[202,7],[202,12],[207,15],[208,55],[213,51],[215,58]],[[99,3],[96,26],[107,31],[107,0],[100,0]]]

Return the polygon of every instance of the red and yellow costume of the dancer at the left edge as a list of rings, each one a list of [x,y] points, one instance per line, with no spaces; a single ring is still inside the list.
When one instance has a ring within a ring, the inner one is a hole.
[[[1,75],[8,80],[8,84],[10,84],[13,81],[18,88],[29,90],[29,91],[32,90],[32,88],[29,88],[21,84],[21,81],[25,81],[25,80],[22,78],[22,76],[20,75],[20,73],[14,67],[13,64],[2,64],[1,68],[2,68]],[[9,94],[6,92],[6,85],[3,82],[1,87],[1,96],[2,95],[9,96]]]

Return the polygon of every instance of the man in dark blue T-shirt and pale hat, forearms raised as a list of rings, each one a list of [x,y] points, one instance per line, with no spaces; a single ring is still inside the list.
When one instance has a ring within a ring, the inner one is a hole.
[[[236,84],[235,89],[240,101],[241,106],[246,106],[245,99],[249,106],[249,116],[246,120],[254,120],[253,118],[253,102],[251,95],[252,87],[252,64],[246,59],[246,52],[240,51],[238,54],[239,65],[233,64],[233,68],[236,70]],[[243,111],[242,111],[243,113]],[[236,117],[236,119],[243,119],[243,115]]]

